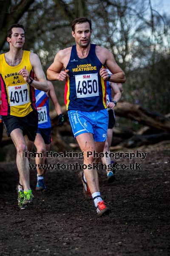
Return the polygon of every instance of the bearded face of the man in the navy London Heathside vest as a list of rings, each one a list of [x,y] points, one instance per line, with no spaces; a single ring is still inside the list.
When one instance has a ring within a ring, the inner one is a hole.
[[[82,48],[87,48],[91,41],[91,30],[88,22],[75,25],[75,31],[72,31],[76,44]]]

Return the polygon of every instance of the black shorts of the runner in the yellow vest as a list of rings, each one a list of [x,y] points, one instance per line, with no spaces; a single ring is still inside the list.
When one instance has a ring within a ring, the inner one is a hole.
[[[11,131],[19,128],[23,131],[23,136],[27,135],[29,140],[35,140],[38,129],[37,110],[31,111],[27,116],[2,116],[2,119],[8,137],[10,136]]]

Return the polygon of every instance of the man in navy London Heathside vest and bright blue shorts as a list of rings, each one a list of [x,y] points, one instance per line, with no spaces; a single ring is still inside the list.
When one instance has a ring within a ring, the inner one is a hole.
[[[81,151],[84,151],[84,164],[93,165],[95,157],[89,152],[103,151],[108,130],[108,122],[105,121],[108,119],[106,81],[124,83],[125,73],[108,49],[90,44],[91,20],[74,20],[72,35],[76,45],[57,53],[47,70],[47,77],[49,80],[66,80],[65,104],[73,133]],[[105,65],[114,75],[108,74]],[[99,192],[97,170],[85,169],[82,182],[85,194],[94,200],[97,214],[109,214],[110,209]]]

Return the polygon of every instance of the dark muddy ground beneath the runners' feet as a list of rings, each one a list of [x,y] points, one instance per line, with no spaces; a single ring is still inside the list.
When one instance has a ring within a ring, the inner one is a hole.
[[[48,171],[48,191],[34,191],[34,206],[20,211],[16,163],[0,163],[0,255],[170,255],[170,147],[138,150],[148,152],[144,161],[118,163],[142,163],[141,171],[116,171],[112,184],[99,171],[102,197],[112,211],[104,218],[85,201],[77,171],[71,170]],[[30,175],[35,189],[35,171]]]

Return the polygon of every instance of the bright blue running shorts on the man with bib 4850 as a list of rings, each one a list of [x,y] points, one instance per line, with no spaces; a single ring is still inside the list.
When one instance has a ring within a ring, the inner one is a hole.
[[[74,137],[83,133],[94,135],[94,141],[103,142],[107,138],[108,111],[79,111],[69,110],[68,117],[74,133]]]

